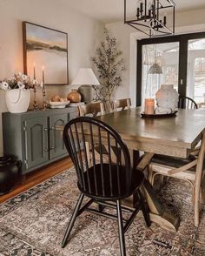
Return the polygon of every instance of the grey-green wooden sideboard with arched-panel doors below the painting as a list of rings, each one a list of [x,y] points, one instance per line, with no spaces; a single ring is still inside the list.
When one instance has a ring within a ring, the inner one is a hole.
[[[22,174],[48,165],[67,155],[62,132],[56,125],[65,125],[76,118],[75,107],[27,111],[13,114],[4,112],[3,152],[22,160]]]

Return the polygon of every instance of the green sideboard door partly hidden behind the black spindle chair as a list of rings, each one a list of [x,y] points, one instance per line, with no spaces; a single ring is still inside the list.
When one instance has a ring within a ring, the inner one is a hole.
[[[66,125],[68,123],[68,114],[57,114],[50,116],[50,159],[63,157],[67,155],[67,150],[63,142],[62,131],[56,130],[56,125]]]

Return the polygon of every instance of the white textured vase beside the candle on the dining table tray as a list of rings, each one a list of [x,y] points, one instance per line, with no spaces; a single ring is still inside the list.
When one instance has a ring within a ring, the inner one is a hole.
[[[160,109],[170,109],[174,112],[178,107],[179,94],[174,89],[174,84],[162,84],[155,93],[157,107]]]

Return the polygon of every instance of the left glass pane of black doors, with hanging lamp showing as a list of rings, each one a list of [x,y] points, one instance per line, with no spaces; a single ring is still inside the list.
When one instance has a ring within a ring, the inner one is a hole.
[[[142,103],[155,98],[161,84],[178,89],[179,42],[142,46]]]

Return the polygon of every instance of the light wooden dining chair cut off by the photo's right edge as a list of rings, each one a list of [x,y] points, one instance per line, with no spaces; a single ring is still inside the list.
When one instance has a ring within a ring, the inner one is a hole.
[[[195,152],[195,153],[194,153]],[[199,226],[200,191],[205,173],[205,131],[200,148],[191,152],[188,158],[165,157],[155,154],[149,164],[149,182],[153,185],[156,175],[187,181],[192,187],[192,200],[195,206],[195,226]]]

